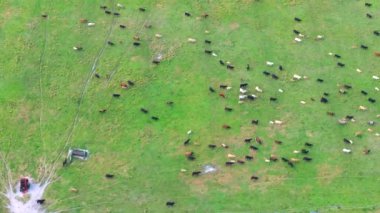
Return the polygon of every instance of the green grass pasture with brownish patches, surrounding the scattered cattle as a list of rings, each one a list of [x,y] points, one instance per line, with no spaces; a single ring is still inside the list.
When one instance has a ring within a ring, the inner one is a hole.
[[[116,3],[125,8],[116,9]],[[367,125],[380,122],[380,92],[374,89],[380,81],[372,79],[380,74],[380,60],[373,54],[380,51],[380,37],[372,33],[379,29],[380,4],[364,3],[0,1],[0,187],[7,185],[7,166],[16,184],[24,175],[38,180],[44,166],[51,170],[57,165],[55,181],[45,193],[49,212],[380,211],[380,137],[375,135],[380,129]],[[120,17],[106,15],[100,5],[114,7]],[[186,17],[186,11],[192,16]],[[209,17],[201,18],[205,12]],[[45,13],[48,18],[41,18]],[[96,26],[81,24],[81,18]],[[293,29],[305,35],[301,43],[293,41]],[[155,38],[156,33],[162,38]],[[325,39],[316,41],[319,34]],[[132,45],[135,35],[141,38],[139,47]],[[204,39],[212,43],[204,44]],[[108,40],[115,45],[107,45]],[[78,45],[84,50],[72,49]],[[205,54],[205,49],[218,56]],[[159,53],[164,60],[152,64]],[[227,70],[219,60],[230,61],[235,69]],[[268,67],[266,61],[275,65]],[[277,69],[279,64],[284,71]],[[266,77],[264,70],[279,80]],[[294,74],[308,79],[291,81]],[[127,80],[135,85],[121,89],[120,82]],[[257,94],[255,86],[264,92],[255,101],[238,104],[240,83],[248,83],[251,93]],[[232,89],[221,90],[220,84]],[[344,84],[352,86],[345,95],[339,93]],[[210,86],[217,93],[209,92]],[[324,92],[330,94],[327,104],[319,101]],[[121,97],[113,98],[113,93]],[[278,100],[270,102],[269,97]],[[377,102],[368,102],[369,97]],[[360,111],[360,105],[368,110]],[[233,111],[226,112],[225,106]],[[140,112],[141,107],[149,113]],[[107,112],[99,113],[101,109]],[[328,111],[335,117],[326,115]],[[356,121],[339,125],[337,120],[346,115]],[[259,125],[252,125],[252,119],[259,119]],[[271,120],[284,124],[270,125]],[[184,146],[188,130],[193,131],[191,143]],[[355,137],[357,131],[363,136]],[[253,152],[244,138],[256,136],[264,144]],[[343,138],[354,144],[344,144]],[[308,154],[311,162],[295,168],[264,162],[271,154],[302,159],[293,150],[307,141],[314,144]],[[221,148],[222,143],[229,148]],[[89,149],[89,160],[62,167],[68,147]],[[343,148],[352,154],[342,153]],[[363,154],[366,148],[371,154]],[[197,159],[187,160],[186,151]],[[238,158],[252,154],[254,160],[226,167],[228,153]],[[205,164],[216,165],[218,172],[192,177]],[[106,173],[115,178],[106,179]],[[252,175],[259,180],[251,181]],[[166,207],[168,200],[176,202],[173,208]],[[0,199],[2,207],[6,203]],[[0,212],[6,209],[0,207]]]

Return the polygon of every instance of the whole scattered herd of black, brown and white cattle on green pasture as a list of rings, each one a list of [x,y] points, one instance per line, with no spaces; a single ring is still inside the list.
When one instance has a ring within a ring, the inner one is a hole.
[[[365,3],[365,6],[366,7],[371,7],[372,4],[370,3]],[[120,17],[122,16],[122,13],[121,12],[115,12],[113,11],[112,9],[110,9],[108,6],[100,6],[100,8],[102,10],[104,10],[104,13],[106,15],[114,15],[115,17]],[[118,5],[118,8],[124,8],[124,6],[122,5]],[[144,8],[144,7],[140,7],[138,8],[139,11],[141,12],[147,12],[148,9]],[[188,18],[192,18],[193,15],[190,13],[190,12],[184,12],[184,15]],[[42,15],[43,18],[47,18],[48,16],[46,14],[43,14]],[[208,18],[209,15],[208,14],[202,14],[202,17],[203,18]],[[370,19],[373,19],[374,16],[370,13],[366,13],[366,17],[367,18],[370,18]],[[297,23],[304,23],[306,22],[307,20],[302,20],[302,17],[294,17],[294,21],[297,22]],[[94,22],[89,22],[87,19],[80,19],[80,23],[82,24],[86,24],[87,26],[89,27],[95,27],[96,24]],[[151,25],[149,25],[150,27],[152,27]],[[123,30],[123,29],[126,29],[128,28],[127,25],[125,24],[120,24],[119,25],[120,29]],[[148,28],[150,28],[148,27]],[[307,36],[305,36],[307,34],[307,32],[300,32],[299,30],[296,30],[296,29],[293,29],[292,32],[294,34],[296,34],[296,37],[294,38],[294,42],[295,43],[300,43],[300,42],[305,42],[305,40],[307,39]],[[380,36],[380,31],[378,30],[374,30],[373,31],[373,34],[375,36]],[[161,34],[155,34],[155,37],[156,38],[161,38],[162,35]],[[322,40],[324,40],[325,37],[323,35],[318,35],[316,36],[315,40],[318,41],[318,42],[323,42]],[[133,39],[134,41],[132,42],[132,45],[135,46],[136,48],[141,46],[141,45],[144,45],[144,42],[143,41],[140,41],[140,38],[139,37],[134,37]],[[187,42],[189,43],[196,43],[197,42],[197,39],[195,38],[188,38],[187,39]],[[210,39],[208,38],[205,38],[204,39],[204,43],[205,45],[208,45],[208,47],[210,47],[211,44],[214,44],[216,43],[216,41],[211,41]],[[107,41],[107,44],[109,46],[115,46],[117,45],[115,42],[112,42],[112,41]],[[359,47],[363,50],[369,50],[369,46],[365,45],[365,44],[360,44]],[[74,46],[73,49],[75,51],[81,51],[83,50],[83,47],[81,46]],[[207,49],[204,49],[204,53],[207,54],[207,55],[212,55],[212,56],[215,56],[217,57],[217,54],[207,48]],[[343,54],[337,54],[337,53],[329,53],[328,55],[330,56],[333,56],[334,58],[336,58],[337,60],[342,60],[342,58],[344,58],[342,55]],[[380,53],[379,52],[374,52],[374,55],[375,56],[380,56]],[[226,68],[226,70],[228,72],[233,72],[235,69],[238,69],[240,67],[243,67],[244,65],[238,65],[238,64],[232,64],[231,62],[229,61],[226,61],[226,60],[223,60],[223,59],[218,59],[217,62]],[[153,64],[155,65],[159,65],[161,63],[161,60],[158,60],[158,59],[154,59],[152,61]],[[275,64],[277,62],[274,62],[274,61],[265,61],[265,65],[270,68],[270,67],[274,67]],[[263,63],[264,64],[264,63]],[[276,65],[276,67],[278,66],[278,70],[280,72],[287,72],[287,70],[285,70],[285,66],[283,66],[282,64],[279,64],[279,65]],[[339,67],[340,69],[346,69],[346,64],[341,62],[341,61],[338,61],[336,62],[336,66]],[[250,64],[246,63],[245,65],[245,69],[247,71],[250,71],[252,70],[253,68],[251,67]],[[276,68],[277,69],[277,68]],[[361,72],[360,69],[357,69],[358,72]],[[280,80],[280,77],[281,75],[279,74],[276,74],[274,73],[273,71],[268,71],[268,70],[264,70],[262,71],[262,74],[267,76],[269,79],[272,79],[274,81],[276,80]],[[101,76],[98,74],[98,73],[95,73],[94,76],[98,79],[101,78]],[[292,78],[291,79],[281,79],[281,80],[289,80],[289,81],[292,81],[292,82],[296,82],[296,81],[301,81],[301,80],[307,80],[308,77],[307,76],[301,76],[299,74],[293,74],[291,75]],[[374,75],[372,76],[372,79],[374,81],[378,81],[379,80],[379,76],[377,75]],[[317,83],[319,84],[324,84],[326,82],[328,82],[328,79],[323,79],[323,78],[317,78],[315,80]],[[121,82],[120,83],[120,87],[122,89],[128,89],[130,87],[133,87],[135,86],[135,83],[131,80],[128,80],[127,82]],[[218,87],[217,86],[209,86],[208,87],[208,91],[210,92],[211,95],[215,95],[216,97],[220,97],[222,99],[229,99],[231,96],[227,95],[228,93],[230,93],[230,91],[234,88],[233,85],[227,85],[227,84],[224,84],[224,83],[221,83],[219,85],[219,89],[217,89]],[[251,90],[251,88],[254,88]],[[348,84],[343,84],[343,85],[340,85],[339,86],[339,90],[338,91],[327,91],[327,92],[323,92],[321,93],[322,95],[320,96],[320,103],[321,104],[332,104],[331,102],[334,102],[333,98],[331,98],[330,96],[330,93],[334,93],[334,92],[337,92],[341,95],[345,95],[347,94],[350,90],[355,90],[355,89],[358,89],[358,94],[361,94],[363,96],[366,96],[368,97],[367,100],[369,102],[369,104],[373,104],[375,105],[375,107],[378,107],[376,105],[376,98],[375,98],[375,94],[372,93],[372,92],[367,92],[365,90],[362,90],[360,88],[356,88],[355,85],[348,85]],[[277,90],[277,89],[276,89]],[[379,91],[379,88],[376,87],[375,88],[376,91]],[[207,92],[207,87],[205,89],[205,92]],[[255,93],[253,93],[255,92]],[[284,93],[284,90],[281,89],[281,88],[278,88],[278,92],[279,93]],[[259,101],[259,99],[261,98],[262,94],[265,94],[266,93],[266,90],[264,91],[264,89],[258,85],[254,85],[253,87],[251,87],[251,85],[249,85],[248,83],[241,83],[238,87],[238,97],[232,97],[236,98],[237,102],[239,104],[243,104],[243,103],[246,103],[246,102],[252,102],[252,101]],[[269,97],[269,103],[271,104],[276,104],[279,99],[281,100],[281,95],[283,94],[279,94],[279,95],[272,95]],[[120,93],[113,93],[112,94],[112,97],[114,98],[121,98],[122,97],[122,94]],[[330,101],[331,100],[331,101]],[[312,99],[311,101],[315,101],[314,99]],[[300,101],[301,104],[307,104],[306,101]],[[168,101],[166,103],[168,106],[172,106],[174,104],[173,101]],[[360,111],[367,111],[368,110],[368,107],[367,106],[364,106],[365,104],[363,103],[363,105],[360,105],[358,107],[358,109]],[[377,108],[378,109],[378,108]],[[226,113],[234,113],[234,109],[231,107],[231,106],[225,106],[224,107],[224,110],[226,111]],[[150,114],[151,112],[149,111],[149,109],[145,108],[145,107],[141,107],[140,108],[140,111],[143,113],[143,114]],[[100,109],[99,110],[100,113],[104,114],[107,112],[107,109]],[[328,116],[331,116],[331,117],[334,117],[335,116],[335,112],[331,112],[331,111],[328,111],[327,112],[327,115]],[[377,118],[380,117],[380,115],[377,115],[376,116]],[[150,116],[150,118],[154,121],[159,121],[159,117],[157,115],[152,115]],[[355,117],[353,115],[347,115],[343,118],[339,118],[336,120],[337,121],[337,125],[346,125],[348,124],[349,122],[355,122]],[[270,125],[282,125],[285,121],[283,120],[273,120],[273,121],[270,121]],[[262,122],[259,122],[259,119],[255,118],[255,119],[252,119],[251,120],[251,124],[254,125],[254,126],[258,126],[258,125],[262,125]],[[367,122],[367,125],[368,126],[374,126],[376,125],[376,122],[373,121],[373,120],[370,120]],[[225,129],[225,130],[229,130],[231,131],[230,129],[233,129],[234,126],[233,125],[230,125],[230,124],[220,124],[221,128]],[[369,128],[368,129],[369,132],[371,132],[372,130]],[[189,131],[190,133],[188,133],[189,135],[191,134],[191,130]],[[379,134],[378,133],[375,133],[376,136],[378,136]],[[355,135],[357,137],[360,137],[362,135],[362,132],[357,132],[355,133]],[[348,138],[343,138],[343,143],[345,144],[345,148],[343,148],[340,152],[344,153],[344,154],[351,154],[357,150],[355,150],[354,148],[354,142],[352,139],[348,139]],[[260,152],[260,149],[261,149],[261,146],[264,144],[264,143],[274,143],[276,145],[283,145],[284,141],[281,141],[279,139],[275,139],[274,141],[264,141],[263,138],[259,137],[259,136],[256,136],[256,137],[251,137],[251,138],[244,138],[242,140],[244,143],[246,144],[249,144],[249,147],[247,149],[247,151],[250,153],[250,154],[247,154],[247,155],[243,155],[243,156],[238,156],[236,154],[231,154],[229,153],[227,155],[227,160],[225,161],[225,166],[227,167],[234,167],[236,164],[245,164],[246,161],[252,161],[252,160],[256,160],[255,158],[255,153],[257,152]],[[191,148],[192,146],[192,141],[189,138],[187,138],[184,142],[183,142],[183,146],[186,146],[188,147],[189,149]],[[270,154],[269,156],[267,155],[267,157],[264,159],[264,162],[266,163],[278,163],[278,162],[282,162],[284,163],[285,166],[289,167],[289,168],[295,168],[297,164],[300,164],[302,161],[304,161],[305,163],[312,163],[313,162],[313,157],[312,156],[312,153],[314,152],[313,151],[313,143],[312,142],[305,142],[303,144],[302,147],[299,147],[299,149],[297,150],[294,150],[293,153],[289,153],[290,154],[299,154],[299,158],[293,158],[293,157],[289,157],[289,156],[277,156],[276,154]],[[211,150],[216,150],[217,148],[223,148],[223,149],[229,149],[229,146],[227,144],[220,144],[220,145],[217,145],[217,144],[208,144],[208,148],[210,148]],[[362,150],[362,153],[365,154],[365,155],[368,155],[371,153],[371,148],[366,148],[364,150]],[[185,152],[185,157],[186,159],[190,160],[190,161],[195,161],[197,158],[196,156],[198,156],[198,153],[197,155],[194,153],[194,151],[186,151]],[[64,165],[66,165],[66,162],[63,163]],[[185,170],[184,170],[185,171]],[[196,170],[196,171],[193,171],[191,172],[191,176],[193,176],[194,178],[199,178],[201,175],[203,175],[204,173],[200,170]],[[107,179],[113,179],[115,177],[114,174],[105,174],[105,177]],[[247,177],[247,179],[250,178],[250,180],[252,180],[253,182],[260,182],[261,180],[261,177],[259,177],[259,175],[255,174],[255,175],[249,175]],[[38,200],[37,202],[39,204],[43,204],[45,200]],[[175,205],[175,201],[167,201],[166,202],[166,206],[168,207],[173,207]]]

